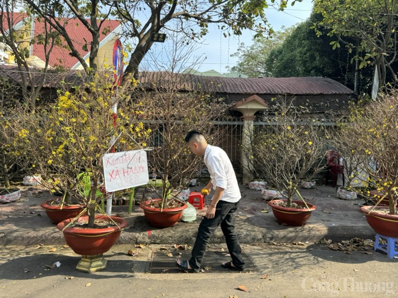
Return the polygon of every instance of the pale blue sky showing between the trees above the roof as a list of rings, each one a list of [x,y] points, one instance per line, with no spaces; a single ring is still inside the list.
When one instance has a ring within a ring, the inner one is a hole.
[[[306,20],[312,9],[312,0],[303,0],[302,2],[296,2],[294,6],[290,3],[284,11],[278,11],[274,7],[266,9],[266,16],[269,23],[275,31],[281,29],[282,26],[290,27],[297,23]],[[240,43],[244,43],[245,46],[250,46],[252,41],[253,33],[250,30],[246,30],[238,38],[231,36],[225,38],[222,32],[217,27],[209,25],[209,33],[204,37],[201,44],[196,45],[196,50],[193,55],[201,57],[199,60],[203,62],[195,67],[200,72],[215,70],[220,73],[226,73],[226,67],[233,67],[236,65],[236,58],[230,57],[238,49]],[[155,43],[152,46],[152,50],[156,53],[155,56],[165,61],[165,53],[170,51],[170,46],[167,44],[167,40],[164,44]],[[149,57],[144,60],[150,60]],[[144,62],[145,64],[145,62]]]

